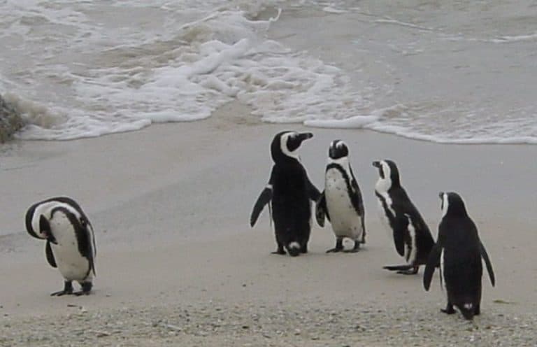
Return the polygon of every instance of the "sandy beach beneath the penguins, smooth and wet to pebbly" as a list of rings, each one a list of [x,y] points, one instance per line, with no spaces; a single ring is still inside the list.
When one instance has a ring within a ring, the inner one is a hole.
[[[0,155],[0,346],[535,346],[537,217],[534,146],[445,146],[359,130],[308,129],[301,160],[321,187],[327,146],[344,139],[366,202],[357,254],[325,254],[313,227],[308,255],[275,249],[264,211],[251,207],[281,129],[229,104],[203,122],[69,142],[17,142]],[[438,192],[455,190],[478,224],[496,271],[483,278],[482,316],[439,309],[445,294],[396,264],[380,227],[371,162],[395,160],[434,236]],[[23,229],[34,201],[68,194],[96,229],[94,292],[62,287],[44,244]]]

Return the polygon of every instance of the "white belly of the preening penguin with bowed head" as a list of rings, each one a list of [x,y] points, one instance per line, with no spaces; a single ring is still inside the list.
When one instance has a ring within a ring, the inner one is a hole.
[[[58,270],[68,281],[90,280],[90,262],[78,252],[76,236],[64,235],[58,244],[51,244]]]

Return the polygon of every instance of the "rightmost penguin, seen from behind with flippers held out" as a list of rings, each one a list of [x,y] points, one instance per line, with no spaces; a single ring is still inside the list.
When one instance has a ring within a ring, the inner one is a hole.
[[[442,219],[438,225],[438,240],[431,250],[425,267],[423,285],[429,290],[435,267],[440,266],[441,278],[447,291],[447,306],[441,310],[471,320],[481,311],[481,277],[485,260],[490,282],[494,286],[494,270],[487,250],[479,239],[478,228],[466,212],[464,201],[454,192],[441,192]]]

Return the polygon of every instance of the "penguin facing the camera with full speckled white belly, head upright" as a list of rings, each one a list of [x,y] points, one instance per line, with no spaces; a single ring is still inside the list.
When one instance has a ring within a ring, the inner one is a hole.
[[[343,250],[345,237],[355,241],[355,247],[345,252],[355,253],[360,243],[366,242],[364,202],[349,162],[349,149],[345,142],[330,143],[328,164],[324,173],[324,191],[315,208],[315,217],[321,227],[328,218],[336,234],[336,247],[327,253]]]

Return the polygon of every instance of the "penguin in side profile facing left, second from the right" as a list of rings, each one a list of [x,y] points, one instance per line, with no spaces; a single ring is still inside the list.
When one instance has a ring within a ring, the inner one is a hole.
[[[375,185],[380,219],[393,237],[397,253],[407,264],[386,266],[384,269],[398,274],[412,275],[422,264],[427,264],[434,246],[433,236],[406,191],[401,186],[399,170],[392,160],[373,162],[379,178]]]

